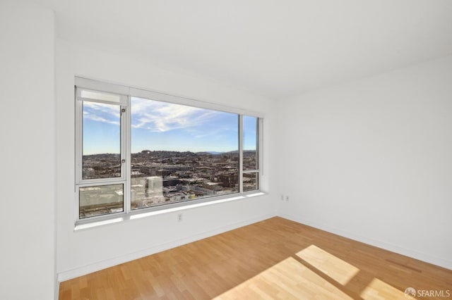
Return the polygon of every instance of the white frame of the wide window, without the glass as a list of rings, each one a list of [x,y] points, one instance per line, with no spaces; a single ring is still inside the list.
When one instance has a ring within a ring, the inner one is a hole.
[[[76,157],[75,157],[75,194],[76,194],[76,225],[93,223],[101,220],[108,220],[118,218],[118,216],[124,215],[136,215],[141,213],[148,213],[150,211],[163,211],[169,208],[175,208],[179,206],[189,206],[191,204],[198,204],[202,202],[215,201],[220,199],[234,198],[246,194],[253,194],[261,192],[261,177],[263,175],[263,115],[254,111],[246,111],[240,108],[233,108],[224,106],[221,104],[214,104],[206,101],[200,101],[197,99],[190,99],[182,96],[174,96],[171,94],[165,94],[160,92],[152,92],[145,89],[138,89],[134,87],[126,87],[124,85],[117,85],[108,82],[101,82],[98,80],[90,80],[83,77],[75,77],[75,109],[76,109]],[[82,90],[88,90],[90,92],[102,92],[105,94],[114,94],[120,96],[120,101],[106,101],[87,99],[81,96]],[[153,101],[162,101],[170,104],[182,104],[185,106],[192,106],[196,108],[205,108],[215,111],[222,111],[226,113],[237,114],[239,119],[238,126],[238,146],[239,146],[239,192],[220,195],[220,196],[206,196],[199,199],[193,199],[190,201],[180,201],[170,204],[162,204],[159,206],[150,206],[146,208],[131,209],[131,98],[138,97],[142,99],[150,99]],[[120,106],[120,110],[125,109],[125,112],[121,112],[121,177],[110,178],[96,178],[83,180],[83,101],[97,102],[103,104],[115,104]],[[258,160],[256,170],[243,170],[243,144],[244,144],[244,127],[243,117],[244,115],[257,118],[256,122],[256,159]],[[258,189],[244,192],[243,190],[243,175],[245,173],[257,173],[258,175]],[[117,213],[107,213],[104,215],[95,215],[86,218],[80,218],[80,187],[92,187],[97,185],[124,185],[123,194],[123,211]]]

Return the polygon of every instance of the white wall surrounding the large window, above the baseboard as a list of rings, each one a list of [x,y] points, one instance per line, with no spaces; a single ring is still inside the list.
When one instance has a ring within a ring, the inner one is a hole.
[[[132,45],[133,46],[133,45]],[[262,186],[271,192],[269,175],[270,112],[273,102],[188,73],[153,67],[138,58],[117,56],[57,40],[57,272],[59,280],[83,275],[201,237],[275,215],[270,194],[74,232],[74,76],[116,82],[156,92],[258,111],[266,115]],[[274,180],[273,180],[274,182]]]

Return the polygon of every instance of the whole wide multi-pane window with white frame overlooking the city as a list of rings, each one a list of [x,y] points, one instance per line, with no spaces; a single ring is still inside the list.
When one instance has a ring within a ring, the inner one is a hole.
[[[261,118],[222,108],[76,77],[77,220],[259,190]]]

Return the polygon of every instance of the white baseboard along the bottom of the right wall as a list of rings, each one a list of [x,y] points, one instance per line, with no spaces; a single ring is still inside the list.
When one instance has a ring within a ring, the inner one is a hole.
[[[327,225],[323,225],[323,224],[319,224],[316,222],[313,222],[311,220],[306,220],[304,218],[299,218],[293,215],[287,215],[287,214],[278,214],[278,216],[280,216],[281,218],[285,218],[287,220],[292,220],[295,221],[297,223],[301,223],[304,225],[308,225],[311,227],[315,227],[318,228],[320,230],[324,230],[326,232],[331,232],[335,235],[340,235],[341,237],[347,237],[348,239],[354,239],[355,241],[358,242],[362,242],[365,244],[369,244],[371,246],[376,246],[379,247],[381,249],[385,249],[388,251],[392,251],[392,252],[396,252],[397,254],[402,254],[405,256],[409,256],[411,258],[415,258],[418,259],[420,261],[424,261],[426,263],[432,263],[434,265],[439,265],[442,268],[446,268],[449,270],[452,270],[452,261],[446,261],[442,258],[437,258],[434,256],[429,256],[428,254],[423,254],[417,251],[412,251],[410,249],[405,249],[403,247],[400,246],[396,246],[393,244],[388,244],[386,242],[381,242],[378,241],[376,239],[369,239],[368,237],[362,237],[360,235],[355,235],[351,232],[346,232],[344,230],[339,230],[337,228],[333,228],[333,227],[329,227]]]

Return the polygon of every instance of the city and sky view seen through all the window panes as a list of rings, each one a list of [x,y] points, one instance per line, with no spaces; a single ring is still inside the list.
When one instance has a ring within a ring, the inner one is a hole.
[[[132,98],[131,209],[239,192],[238,120],[234,113]],[[257,120],[243,118],[243,170],[250,170],[244,192],[258,189]],[[79,218],[123,211],[124,182],[102,182],[124,172],[120,149],[120,106],[83,101],[82,180],[100,183],[79,188]]]

